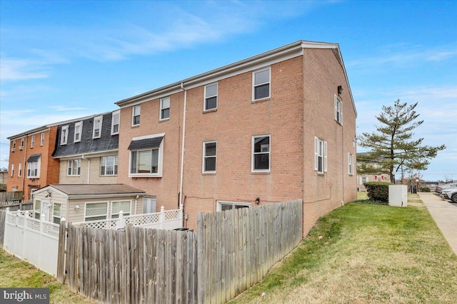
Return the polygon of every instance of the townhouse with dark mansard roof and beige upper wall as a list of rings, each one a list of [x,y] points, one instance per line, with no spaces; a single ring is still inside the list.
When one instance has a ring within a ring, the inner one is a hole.
[[[115,184],[118,145],[119,110],[59,123],[59,184]]]

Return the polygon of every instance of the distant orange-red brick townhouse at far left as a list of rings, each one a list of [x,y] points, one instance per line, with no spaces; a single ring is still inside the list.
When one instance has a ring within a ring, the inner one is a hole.
[[[59,160],[51,157],[56,132],[56,125],[45,125],[8,137],[7,192],[24,191],[24,200],[30,200],[33,190],[59,182]]]

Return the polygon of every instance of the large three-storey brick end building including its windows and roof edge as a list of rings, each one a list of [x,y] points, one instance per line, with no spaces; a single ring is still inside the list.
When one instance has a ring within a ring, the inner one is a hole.
[[[117,182],[183,204],[184,226],[303,199],[306,234],[356,199],[356,108],[336,43],[297,41],[116,104]]]

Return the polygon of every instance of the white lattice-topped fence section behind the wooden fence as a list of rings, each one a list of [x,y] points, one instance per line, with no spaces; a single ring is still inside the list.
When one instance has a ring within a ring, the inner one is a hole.
[[[74,226],[84,226],[101,229],[123,229],[126,225],[151,229],[178,229],[183,225],[183,207],[167,210],[161,206],[160,212],[151,214],[136,214],[124,216],[122,211],[117,219],[101,219],[99,221],[81,221],[72,223]]]

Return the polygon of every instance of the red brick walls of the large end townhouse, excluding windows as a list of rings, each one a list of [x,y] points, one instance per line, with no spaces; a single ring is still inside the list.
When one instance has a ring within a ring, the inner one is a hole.
[[[204,112],[204,86],[187,90],[184,226],[196,228],[199,211],[216,201],[260,204],[303,199],[306,234],[316,219],[356,198],[355,112],[343,68],[332,50],[305,49],[304,56],[271,65],[271,98],[252,102],[252,72],[218,82],[218,108]],[[334,120],[333,95],[343,85],[343,126]],[[184,93],[171,95],[170,120],[159,122],[159,99],[141,104],[141,124],[131,127],[131,107],[121,109],[118,182],[157,196],[157,208],[179,199]],[[132,137],[164,132],[161,178],[128,177]],[[252,135],[271,135],[271,172],[251,172]],[[314,136],[328,142],[328,172],[314,171]],[[216,174],[202,174],[203,142],[217,140]]]

